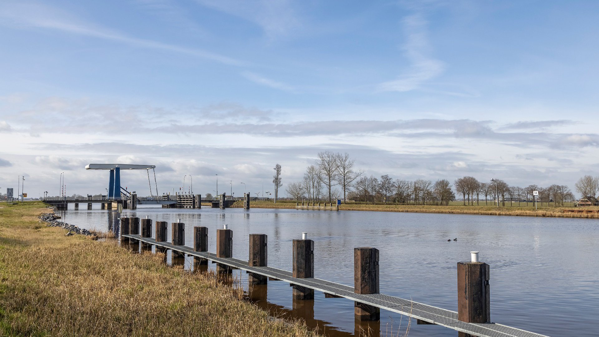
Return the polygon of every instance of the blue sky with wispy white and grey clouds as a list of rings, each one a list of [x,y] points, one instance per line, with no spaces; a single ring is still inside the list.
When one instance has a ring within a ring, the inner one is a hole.
[[[574,189],[599,174],[597,22],[597,1],[2,0],[0,191],[105,193],[84,166],[117,163],[255,195],[279,163],[285,195],[326,150]]]

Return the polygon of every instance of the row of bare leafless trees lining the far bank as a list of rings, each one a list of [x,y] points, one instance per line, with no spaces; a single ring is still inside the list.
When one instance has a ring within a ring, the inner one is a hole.
[[[280,181],[280,180],[279,180]],[[576,183],[580,194],[595,196],[599,192],[599,177],[585,176]],[[370,203],[399,204],[433,204],[448,205],[461,197],[464,205],[486,205],[493,200],[500,200],[505,206],[509,203],[528,202],[533,200],[533,191],[538,191],[534,199],[537,202],[553,202],[555,206],[563,206],[564,202],[573,201],[574,194],[566,185],[553,184],[547,187],[528,185],[526,187],[510,186],[504,180],[493,179],[480,182],[475,177],[464,176],[449,182],[438,179],[394,179],[388,174],[380,177],[365,176],[364,170],[355,168],[355,160],[349,154],[331,151],[319,152],[314,164],[306,167],[304,177],[298,182],[289,183],[286,192],[294,200],[314,202],[337,198],[365,201]],[[489,198],[491,200],[489,200]]]

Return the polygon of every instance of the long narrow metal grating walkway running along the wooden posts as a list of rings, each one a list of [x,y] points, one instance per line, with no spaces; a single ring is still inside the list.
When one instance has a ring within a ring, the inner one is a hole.
[[[252,267],[248,266],[247,260],[238,258],[221,258],[211,252],[196,252],[189,246],[174,246],[168,242],[156,242],[151,237],[141,237],[140,235],[123,235],[146,242],[151,245],[161,246],[174,251],[183,252],[196,257],[226,264],[247,272],[252,272],[270,278],[276,278],[290,284],[301,285],[323,293],[333,294],[335,296],[345,297],[355,302],[373,305],[381,309],[397,312],[418,320],[434,323],[440,326],[449,327],[459,332],[469,333],[479,337],[548,337],[538,333],[516,329],[515,327],[504,326],[497,323],[465,323],[458,320],[458,312],[437,308],[436,306],[425,305],[412,300],[401,299],[400,297],[389,296],[385,294],[362,295],[353,292],[353,287],[335,282],[326,281],[319,278],[294,278],[288,270],[273,267]]]

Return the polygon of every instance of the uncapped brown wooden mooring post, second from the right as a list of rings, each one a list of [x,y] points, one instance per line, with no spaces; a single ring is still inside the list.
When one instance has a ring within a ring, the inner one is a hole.
[[[353,292],[356,294],[379,293],[379,249],[353,248],[353,284]],[[379,308],[360,302],[354,303],[353,311],[357,320],[379,320]]]

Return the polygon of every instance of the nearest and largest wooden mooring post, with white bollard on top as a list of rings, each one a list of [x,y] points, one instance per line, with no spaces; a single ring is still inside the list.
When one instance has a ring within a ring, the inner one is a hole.
[[[491,321],[489,265],[479,262],[479,252],[470,252],[470,261],[458,262],[458,319],[466,323]],[[460,332],[458,336],[471,335]]]

